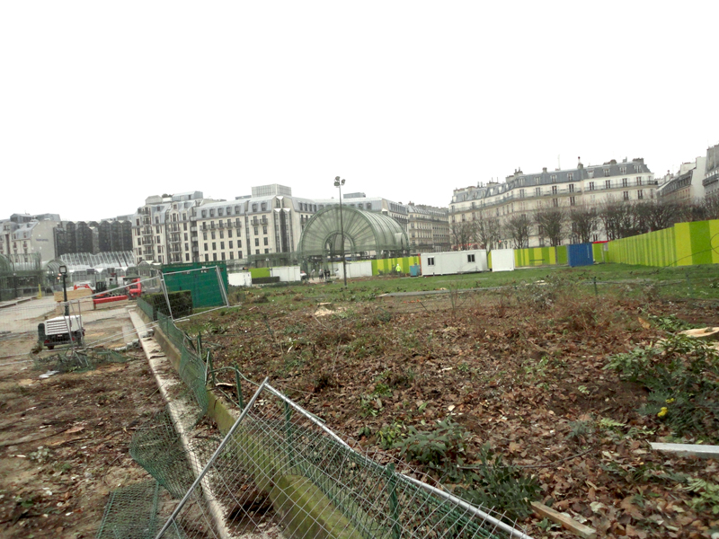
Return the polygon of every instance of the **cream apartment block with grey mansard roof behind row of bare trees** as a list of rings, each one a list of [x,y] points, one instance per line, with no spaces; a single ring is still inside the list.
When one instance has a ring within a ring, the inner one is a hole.
[[[515,171],[505,181],[490,181],[455,189],[449,206],[449,227],[456,223],[482,217],[505,220],[515,214],[528,216],[538,208],[585,206],[599,208],[609,201],[627,202],[656,197],[654,174],[644,159],[624,159],[617,163],[584,166],[573,169],[524,173]],[[594,241],[605,239],[595,234]],[[505,238],[508,243],[509,238]],[[530,229],[528,246],[538,246],[542,240],[536,226]],[[453,242],[454,243],[454,242]],[[504,243],[504,242],[503,242]]]

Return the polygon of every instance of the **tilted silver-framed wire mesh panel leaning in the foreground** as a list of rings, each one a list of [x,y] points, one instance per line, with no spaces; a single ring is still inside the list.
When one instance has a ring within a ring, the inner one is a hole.
[[[371,459],[262,384],[195,481],[187,499],[218,537],[527,537],[493,516],[416,479],[386,455]],[[196,525],[180,504],[165,526],[188,537]],[[162,535],[157,535],[158,537]]]

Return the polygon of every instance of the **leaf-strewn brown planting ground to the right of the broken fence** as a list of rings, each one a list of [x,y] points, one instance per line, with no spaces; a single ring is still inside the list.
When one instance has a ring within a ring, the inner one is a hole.
[[[708,492],[697,501],[676,480],[719,483],[717,462],[660,454],[649,445],[706,443],[717,433],[671,437],[661,417],[639,413],[644,386],[604,368],[612,355],[670,334],[654,317],[719,325],[715,301],[535,288],[317,305],[284,294],[249,293],[244,305],[184,328],[202,333],[215,367],[236,364],[258,381],[269,376],[332,429],[368,448],[398,455],[396,442],[408,428],[431,431],[450,418],[470,436],[458,464],[477,464],[488,444],[504,463],[536,478],[537,501],[599,536],[719,532],[717,501],[706,502]],[[229,376],[220,381],[234,383]],[[535,537],[572,536],[536,515],[520,525]]]

